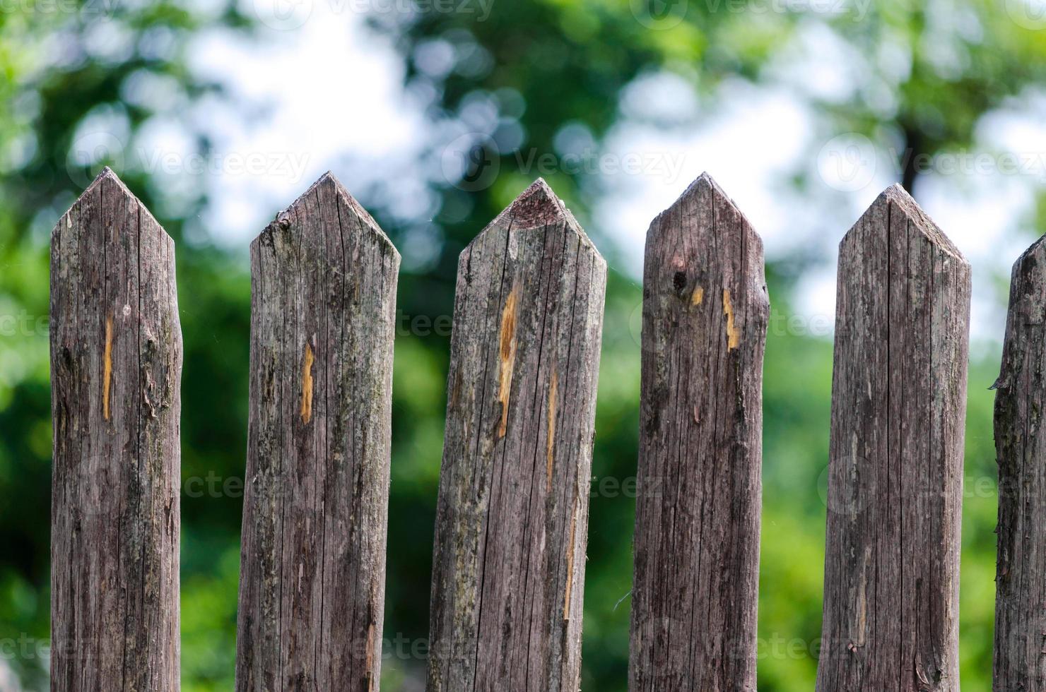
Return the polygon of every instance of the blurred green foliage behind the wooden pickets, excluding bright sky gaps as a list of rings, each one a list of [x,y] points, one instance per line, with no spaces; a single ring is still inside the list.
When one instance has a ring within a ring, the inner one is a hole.
[[[495,0],[482,22],[475,15],[431,11],[410,18],[385,14],[372,21],[377,30],[394,37],[405,56],[406,86],[434,94],[427,113],[433,123],[461,119],[470,103],[492,100],[500,118],[498,130],[487,133],[494,146],[506,133],[516,133],[518,146],[539,155],[554,153],[556,134],[570,123],[581,123],[599,141],[620,116],[619,94],[637,76],[674,72],[693,85],[705,109],[725,79],[781,80],[775,71],[781,52],[801,32],[819,27],[856,54],[873,59],[842,95],[797,87],[829,129],[934,154],[970,146],[985,113],[1046,82],[1046,27],[1015,17],[1018,0],[1004,4],[1006,11],[992,0],[947,5],[884,0],[816,14],[768,10],[783,3],[759,1]],[[118,161],[79,165],[70,149],[87,118],[101,114],[120,123],[126,130],[120,138],[129,141],[129,133],[163,116],[180,122],[201,154],[212,155],[206,134],[183,117],[179,105],[231,97],[194,76],[186,66],[187,46],[195,33],[215,27],[255,36],[249,5],[24,0],[0,10],[5,103],[0,109],[0,642],[40,644],[48,638],[48,233],[91,174],[114,163],[178,245],[185,339],[182,666],[187,692],[232,686],[242,498],[228,483],[242,479],[246,448],[246,252],[188,232],[208,203],[205,184],[197,181],[170,204],[157,181],[120,152],[110,153]],[[113,40],[99,41],[103,28],[116,31],[123,49],[113,49]],[[449,45],[455,55],[453,69],[439,75],[420,69],[418,59],[433,42]],[[129,85],[142,73],[162,76],[178,94],[175,105],[157,110],[137,102],[133,93],[129,97]],[[802,75],[793,76],[782,83],[802,83]],[[737,142],[740,152],[744,144]],[[408,319],[451,314],[458,253],[530,182],[510,152],[485,155],[497,157],[501,169],[490,187],[464,191],[453,181],[432,181],[439,200],[432,220],[439,253],[424,272],[401,277],[400,310]],[[902,168],[917,197],[916,171]],[[788,182],[813,194],[808,170],[797,170]],[[612,268],[593,461],[583,686],[624,690],[634,499],[623,487],[636,468],[641,290],[636,277],[613,270],[622,266],[621,257],[591,222],[602,192],[598,180],[561,172],[549,182]],[[288,190],[288,201],[298,191]],[[370,204],[381,195],[360,197],[393,241],[401,241],[407,225],[380,203]],[[844,230],[825,238],[825,247],[833,247]],[[826,252],[777,257],[768,267],[775,317],[765,378],[759,689],[766,692],[810,690],[816,672],[832,343],[794,326],[802,324],[802,316],[799,323],[789,319],[797,281]],[[993,295],[997,290],[975,286]],[[389,692],[417,689],[424,670],[418,652],[428,631],[448,345],[444,333],[406,329],[395,347],[384,666]],[[961,643],[962,683],[974,690],[988,689],[991,677],[997,500],[987,387],[997,351],[997,344],[974,349],[970,375]],[[45,689],[41,649],[6,647],[0,649],[0,663],[13,666],[27,689]],[[18,654],[8,655],[12,651]]]

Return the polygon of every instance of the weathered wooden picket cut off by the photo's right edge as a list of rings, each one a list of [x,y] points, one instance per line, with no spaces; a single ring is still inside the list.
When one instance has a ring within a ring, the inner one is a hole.
[[[996,383],[996,692],[1046,691],[1046,245],[1014,264]]]

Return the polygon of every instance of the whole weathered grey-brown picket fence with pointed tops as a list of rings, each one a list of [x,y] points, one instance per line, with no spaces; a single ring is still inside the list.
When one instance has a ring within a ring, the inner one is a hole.
[[[999,692],[1046,689],[1043,248],[997,383]],[[379,689],[399,264],[329,174],[251,246],[237,691]],[[540,180],[461,253],[430,692],[579,687],[606,277]],[[769,297],[707,175],[652,224],[643,295],[629,688],[754,691]],[[970,296],[899,186],[840,245],[820,692],[959,689]],[[51,315],[51,689],[172,692],[174,246],[109,169],[54,229]]]

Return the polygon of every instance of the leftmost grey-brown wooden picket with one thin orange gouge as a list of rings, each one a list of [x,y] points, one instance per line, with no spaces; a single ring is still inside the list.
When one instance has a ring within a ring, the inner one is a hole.
[[[174,243],[106,168],[51,235],[51,690],[179,689]]]

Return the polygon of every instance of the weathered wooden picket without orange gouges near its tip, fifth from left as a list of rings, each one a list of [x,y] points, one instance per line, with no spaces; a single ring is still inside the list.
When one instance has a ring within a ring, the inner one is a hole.
[[[821,692],[959,689],[970,290],[897,185],[840,245]]]

